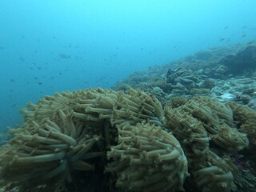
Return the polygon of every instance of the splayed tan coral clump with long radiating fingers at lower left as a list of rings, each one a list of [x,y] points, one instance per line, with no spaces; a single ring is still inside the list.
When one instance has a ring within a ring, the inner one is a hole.
[[[10,186],[21,186],[20,191],[38,186],[58,191],[65,180],[71,182],[72,171],[94,170],[86,159],[102,155],[92,150],[100,137],[88,133],[85,124],[62,110],[57,111],[55,121],[31,121],[12,132],[14,138],[0,157],[1,178]]]

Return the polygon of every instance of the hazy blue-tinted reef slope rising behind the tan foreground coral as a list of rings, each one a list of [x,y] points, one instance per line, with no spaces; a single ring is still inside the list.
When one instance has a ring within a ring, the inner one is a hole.
[[[171,97],[208,96],[240,102],[256,109],[256,41],[201,50],[148,71],[136,71],[113,90],[129,86],[154,94],[165,102]]]

